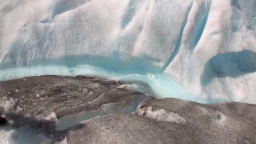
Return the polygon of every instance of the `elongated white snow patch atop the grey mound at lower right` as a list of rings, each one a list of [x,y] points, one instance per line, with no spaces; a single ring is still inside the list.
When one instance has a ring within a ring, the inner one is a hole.
[[[157,120],[157,121],[168,121],[168,122],[175,122],[175,123],[181,123],[186,124],[187,121],[181,117],[179,114],[176,114],[174,112],[169,112],[165,109],[154,109],[152,110],[152,107],[144,107],[144,108],[138,108],[135,111],[138,115],[145,115],[146,117]]]

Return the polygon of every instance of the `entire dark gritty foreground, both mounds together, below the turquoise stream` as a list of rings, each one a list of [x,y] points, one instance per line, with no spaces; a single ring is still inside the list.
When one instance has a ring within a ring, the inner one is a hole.
[[[4,81],[0,116],[5,125],[45,136],[41,144],[256,143],[255,104],[154,99],[129,84],[50,75]]]

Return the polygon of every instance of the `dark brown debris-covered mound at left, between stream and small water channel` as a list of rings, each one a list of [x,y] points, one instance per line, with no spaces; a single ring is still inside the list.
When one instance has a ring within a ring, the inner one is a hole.
[[[100,77],[24,77],[0,82],[0,100],[13,101],[13,109],[28,117],[57,118],[98,109],[102,104],[131,102],[142,93],[117,88],[123,81]]]

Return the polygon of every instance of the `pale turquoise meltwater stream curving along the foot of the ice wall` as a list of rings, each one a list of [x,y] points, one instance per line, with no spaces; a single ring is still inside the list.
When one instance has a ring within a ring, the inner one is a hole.
[[[184,99],[189,101],[196,101],[200,103],[211,103],[203,96],[194,96],[179,85],[171,76],[163,72],[155,73],[133,73],[133,72],[119,72],[108,69],[95,67],[91,65],[77,65],[75,67],[46,65],[46,66],[29,66],[16,67],[0,70],[0,80],[11,80],[26,76],[39,75],[95,75],[100,77],[109,77],[118,80],[126,81],[142,81],[147,83],[154,91],[157,98],[172,97],[177,99]],[[141,91],[138,89],[138,91]]]

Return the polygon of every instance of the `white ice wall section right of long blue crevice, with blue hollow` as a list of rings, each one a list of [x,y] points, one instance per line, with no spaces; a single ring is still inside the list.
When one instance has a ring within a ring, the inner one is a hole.
[[[255,101],[255,11],[255,0],[194,1],[166,72],[209,101]]]

